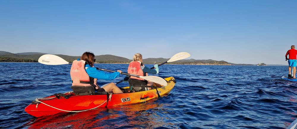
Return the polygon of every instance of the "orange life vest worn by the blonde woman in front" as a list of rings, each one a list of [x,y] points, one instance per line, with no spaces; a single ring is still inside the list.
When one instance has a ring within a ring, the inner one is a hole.
[[[144,74],[140,66],[144,66],[140,61],[130,62],[128,66],[128,74],[147,76],[147,73]],[[144,80],[135,76],[130,76],[130,79]]]

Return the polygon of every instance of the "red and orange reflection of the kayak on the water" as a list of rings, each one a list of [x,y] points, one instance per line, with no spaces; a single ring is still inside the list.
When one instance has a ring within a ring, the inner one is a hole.
[[[35,118],[24,126],[29,128],[153,128],[158,116],[148,112],[162,107],[154,101],[146,103],[99,108],[78,113],[62,113],[48,117]]]

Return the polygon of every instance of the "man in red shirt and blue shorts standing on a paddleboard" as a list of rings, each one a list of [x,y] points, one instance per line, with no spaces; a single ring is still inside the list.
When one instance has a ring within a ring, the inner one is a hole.
[[[289,58],[287,57],[289,55]],[[291,49],[287,51],[286,53],[286,60],[288,60],[289,63],[289,74],[288,78],[293,78],[296,79],[296,55],[297,55],[297,50],[295,49],[295,45],[291,46]],[[293,67],[293,76],[291,76],[291,67]]]

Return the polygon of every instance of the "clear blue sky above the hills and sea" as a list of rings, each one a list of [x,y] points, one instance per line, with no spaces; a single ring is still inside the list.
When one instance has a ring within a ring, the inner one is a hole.
[[[0,1],[0,50],[287,64],[297,1]]]

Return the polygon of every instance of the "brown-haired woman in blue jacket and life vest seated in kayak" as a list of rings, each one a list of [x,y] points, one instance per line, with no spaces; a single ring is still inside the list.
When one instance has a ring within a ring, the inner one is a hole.
[[[73,92],[77,95],[104,94],[104,92],[123,93],[114,83],[106,84],[102,88],[98,86],[97,79],[113,80],[119,77],[122,71],[105,73],[94,67],[95,61],[95,55],[91,52],[85,52],[73,61],[70,70]]]

